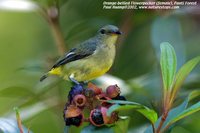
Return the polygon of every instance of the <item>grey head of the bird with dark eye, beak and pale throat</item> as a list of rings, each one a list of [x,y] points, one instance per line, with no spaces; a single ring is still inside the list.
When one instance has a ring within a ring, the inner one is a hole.
[[[119,35],[121,35],[121,31],[118,27],[114,25],[106,25],[103,26],[99,31],[98,35],[100,39],[105,41],[105,44],[115,44]]]

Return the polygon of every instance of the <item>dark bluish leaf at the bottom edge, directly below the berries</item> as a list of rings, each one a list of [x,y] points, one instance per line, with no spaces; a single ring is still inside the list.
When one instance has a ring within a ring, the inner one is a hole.
[[[93,125],[88,125],[83,128],[81,133],[114,133],[113,129],[107,126],[95,127]]]

